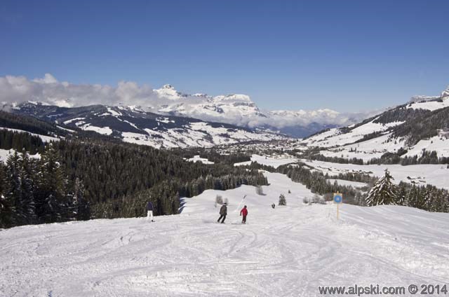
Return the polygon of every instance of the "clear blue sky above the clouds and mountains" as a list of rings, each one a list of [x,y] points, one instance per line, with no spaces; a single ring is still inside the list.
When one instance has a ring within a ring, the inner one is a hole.
[[[0,76],[363,111],[449,84],[449,1],[9,1]]]

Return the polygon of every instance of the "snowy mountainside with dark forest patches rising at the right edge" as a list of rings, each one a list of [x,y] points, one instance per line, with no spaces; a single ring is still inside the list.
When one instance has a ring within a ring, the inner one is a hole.
[[[436,151],[437,158],[449,157],[449,88],[438,97],[413,97],[357,125],[333,128],[307,139],[303,144],[320,148],[326,157],[345,159],[420,158]]]

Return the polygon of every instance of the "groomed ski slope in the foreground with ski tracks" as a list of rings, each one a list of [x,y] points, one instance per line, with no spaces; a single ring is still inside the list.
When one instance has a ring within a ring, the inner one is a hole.
[[[342,205],[337,221],[335,205],[304,205],[307,188],[267,177],[265,195],[206,191],[156,223],[2,230],[0,296],[320,296],[326,285],[449,283],[449,214]],[[272,209],[280,193],[288,205]],[[216,223],[217,194],[229,200],[225,224]]]

